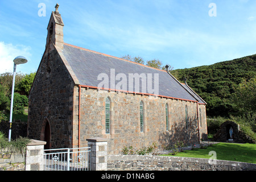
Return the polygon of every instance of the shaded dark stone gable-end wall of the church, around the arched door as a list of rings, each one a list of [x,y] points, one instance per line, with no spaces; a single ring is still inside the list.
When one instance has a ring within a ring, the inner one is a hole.
[[[45,52],[29,97],[28,138],[44,140],[46,121],[51,148],[72,147],[73,80],[56,49]]]

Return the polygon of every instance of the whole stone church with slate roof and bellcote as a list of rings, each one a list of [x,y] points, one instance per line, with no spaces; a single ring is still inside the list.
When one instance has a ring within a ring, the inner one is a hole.
[[[56,5],[30,90],[29,138],[46,141],[45,148],[107,138],[108,153],[119,154],[124,146],[195,144],[207,137],[206,102],[187,84],[168,70],[64,43],[63,27]]]

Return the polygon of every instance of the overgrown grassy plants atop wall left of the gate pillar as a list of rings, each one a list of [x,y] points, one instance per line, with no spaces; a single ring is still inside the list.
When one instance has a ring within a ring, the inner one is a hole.
[[[16,152],[24,154],[27,144],[30,142],[28,138],[19,137],[9,142],[8,138],[0,131],[0,151]]]

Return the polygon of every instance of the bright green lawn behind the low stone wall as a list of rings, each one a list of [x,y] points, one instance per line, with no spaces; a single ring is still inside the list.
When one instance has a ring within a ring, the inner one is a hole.
[[[256,144],[238,144],[238,143],[217,143],[207,148],[194,148],[179,152],[176,155],[168,156],[181,156],[188,158],[205,158],[209,159],[210,151],[215,151],[218,160],[232,160],[237,162],[254,163],[256,164]]]

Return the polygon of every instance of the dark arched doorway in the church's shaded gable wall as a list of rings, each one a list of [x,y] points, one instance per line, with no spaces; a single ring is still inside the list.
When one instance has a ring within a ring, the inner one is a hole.
[[[45,141],[44,149],[51,148],[51,125],[48,119],[44,119],[42,130],[40,134],[40,140]]]

